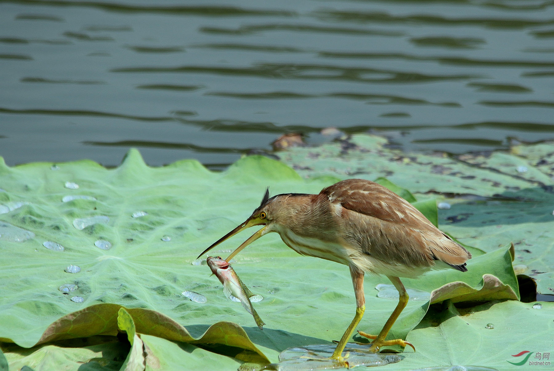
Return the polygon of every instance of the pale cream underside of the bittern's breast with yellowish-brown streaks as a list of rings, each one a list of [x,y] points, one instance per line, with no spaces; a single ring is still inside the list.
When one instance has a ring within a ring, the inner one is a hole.
[[[355,253],[355,251],[350,251],[351,248],[348,248],[348,246],[322,241],[317,238],[300,236],[290,230],[280,231],[279,235],[289,248],[301,255],[320,257],[321,259],[350,265],[352,254]]]

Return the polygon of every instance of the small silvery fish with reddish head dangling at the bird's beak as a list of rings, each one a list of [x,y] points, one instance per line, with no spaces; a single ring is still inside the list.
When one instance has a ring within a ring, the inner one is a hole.
[[[233,300],[233,298],[238,299],[244,309],[254,317],[254,321],[256,321],[258,327],[263,329],[262,326],[264,326],[265,323],[261,321],[260,316],[258,316],[258,313],[255,311],[252,306],[252,302],[250,301],[250,297],[259,295],[254,295],[250,292],[248,287],[240,281],[239,276],[233,270],[231,265],[219,256],[208,256],[206,262],[212,270],[212,273],[216,275],[219,282],[223,284],[223,292],[225,293],[225,296],[231,300]]]

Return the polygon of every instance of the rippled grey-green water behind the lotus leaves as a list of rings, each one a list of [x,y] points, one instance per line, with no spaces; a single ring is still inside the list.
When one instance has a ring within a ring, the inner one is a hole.
[[[2,1],[0,156],[220,168],[281,133],[554,138],[554,2]]]

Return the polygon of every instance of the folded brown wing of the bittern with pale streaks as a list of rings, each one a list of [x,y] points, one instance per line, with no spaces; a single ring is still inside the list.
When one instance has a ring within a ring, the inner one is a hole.
[[[351,243],[390,263],[430,266],[441,260],[465,271],[471,254],[436,228],[409,202],[364,179],[347,179],[321,191],[342,207]]]

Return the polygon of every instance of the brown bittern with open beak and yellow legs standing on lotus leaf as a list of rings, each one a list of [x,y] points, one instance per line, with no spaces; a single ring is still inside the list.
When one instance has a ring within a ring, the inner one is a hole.
[[[342,351],[365,311],[364,272],[387,276],[400,295],[398,305],[377,336],[358,331],[373,339],[370,352],[395,344],[414,348],[402,339],[386,340],[408,302],[408,293],[399,277],[415,278],[435,265],[465,272],[466,260],[471,258],[467,250],[406,200],[363,179],[338,182],[319,194],[286,193],[269,198],[266,190],[260,207],[200,256],[254,225],[264,227],[233,251],[227,261],[264,234],[276,232],[289,248],[301,255],[321,257],[350,268],[356,315],[338,342],[332,359],[342,358]]]

